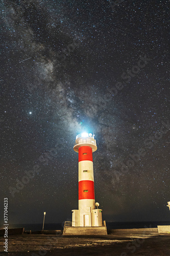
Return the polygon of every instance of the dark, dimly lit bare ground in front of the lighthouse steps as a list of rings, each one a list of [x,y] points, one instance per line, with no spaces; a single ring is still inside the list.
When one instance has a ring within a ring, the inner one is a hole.
[[[109,234],[105,237],[63,237],[53,234],[23,234],[8,237],[4,252],[0,237],[0,255],[146,255],[170,256],[170,234]]]

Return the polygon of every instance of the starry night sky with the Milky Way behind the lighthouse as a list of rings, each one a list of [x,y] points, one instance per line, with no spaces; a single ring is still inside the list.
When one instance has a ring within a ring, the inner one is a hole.
[[[82,132],[103,220],[170,221],[169,1],[117,2],[1,1],[2,223],[70,220]]]

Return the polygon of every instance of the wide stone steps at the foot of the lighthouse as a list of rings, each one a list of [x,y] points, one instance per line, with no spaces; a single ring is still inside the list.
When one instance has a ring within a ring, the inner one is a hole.
[[[70,227],[63,230],[63,236],[106,236],[107,228],[102,227]]]

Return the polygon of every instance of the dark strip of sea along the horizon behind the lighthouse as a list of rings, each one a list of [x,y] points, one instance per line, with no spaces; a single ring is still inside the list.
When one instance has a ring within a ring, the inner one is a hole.
[[[106,222],[107,229],[123,229],[123,228],[157,228],[158,225],[170,225],[169,221],[156,222]],[[8,228],[24,227],[25,230],[38,231],[42,230],[42,223],[38,224],[12,224]],[[0,227],[0,229],[3,228]],[[44,230],[62,230],[63,223],[44,223]]]

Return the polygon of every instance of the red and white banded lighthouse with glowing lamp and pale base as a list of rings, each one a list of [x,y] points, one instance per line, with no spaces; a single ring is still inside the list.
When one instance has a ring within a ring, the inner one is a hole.
[[[79,154],[79,209],[72,210],[72,227],[101,227],[102,209],[95,208],[92,153],[97,150],[94,135],[77,135],[74,151]]]

